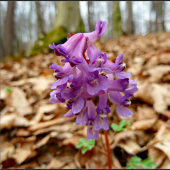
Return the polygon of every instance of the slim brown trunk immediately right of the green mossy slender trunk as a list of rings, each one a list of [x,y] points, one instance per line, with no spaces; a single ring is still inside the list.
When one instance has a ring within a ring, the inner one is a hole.
[[[127,11],[127,19],[126,19],[126,33],[128,35],[133,34],[133,12],[132,12],[132,1],[126,1],[126,11]]]

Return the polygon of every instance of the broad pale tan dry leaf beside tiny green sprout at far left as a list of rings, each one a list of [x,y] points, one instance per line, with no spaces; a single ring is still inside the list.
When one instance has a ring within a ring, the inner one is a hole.
[[[25,93],[18,87],[12,89],[10,103],[21,116],[32,113],[32,107],[29,105]]]

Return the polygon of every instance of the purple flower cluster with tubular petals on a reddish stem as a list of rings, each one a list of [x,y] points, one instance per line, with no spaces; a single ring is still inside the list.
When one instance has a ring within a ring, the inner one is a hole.
[[[95,31],[90,33],[68,34],[64,44],[49,47],[56,56],[63,56],[63,67],[52,64],[51,68],[56,81],[51,84],[49,101],[65,102],[69,109],[64,115],[76,115],[76,124],[87,126],[87,140],[99,137],[99,130],[108,130],[108,100],[117,105],[120,116],[129,117],[133,114],[128,106],[129,97],[136,92],[137,82],[129,80],[131,73],[124,72],[126,64],[122,61],[123,54],[116,58],[115,63],[108,60],[106,53],[101,53],[93,45],[106,31],[106,22],[98,20]],[[114,79],[114,76],[117,77]],[[93,99],[98,99],[95,106]]]

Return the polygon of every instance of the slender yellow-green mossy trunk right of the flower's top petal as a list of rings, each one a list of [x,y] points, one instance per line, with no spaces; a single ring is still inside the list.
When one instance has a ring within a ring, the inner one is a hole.
[[[119,1],[113,2],[113,38],[118,38],[122,35],[122,20]]]

